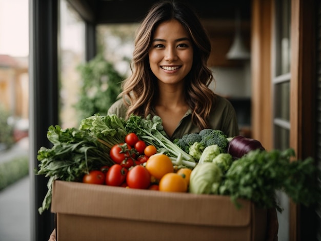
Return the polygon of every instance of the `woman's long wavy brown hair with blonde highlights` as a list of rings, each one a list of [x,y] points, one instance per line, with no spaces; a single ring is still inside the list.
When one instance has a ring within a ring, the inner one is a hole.
[[[193,10],[175,1],[156,3],[137,31],[131,62],[132,75],[122,84],[121,96],[128,107],[127,117],[130,114],[146,117],[155,104],[158,86],[150,69],[148,51],[157,26],[171,19],[176,19],[184,26],[193,44],[193,66],[186,76],[184,90],[186,102],[192,110],[192,122],[199,129],[209,128],[209,114],[215,106],[216,96],[209,88],[214,81],[207,67],[211,52],[210,39]]]

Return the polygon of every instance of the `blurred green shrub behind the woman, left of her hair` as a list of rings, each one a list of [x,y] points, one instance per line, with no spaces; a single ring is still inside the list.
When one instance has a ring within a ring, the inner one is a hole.
[[[77,70],[83,82],[79,101],[75,105],[79,118],[84,119],[96,113],[106,115],[121,93],[124,76],[119,74],[102,54],[79,65]]]

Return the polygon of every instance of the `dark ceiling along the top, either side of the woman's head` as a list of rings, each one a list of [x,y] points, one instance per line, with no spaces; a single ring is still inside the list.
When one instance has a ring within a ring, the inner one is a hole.
[[[67,0],[85,19],[94,24],[132,23],[143,19],[158,0]],[[251,0],[185,0],[203,19],[235,19],[239,10],[242,20],[248,21]]]

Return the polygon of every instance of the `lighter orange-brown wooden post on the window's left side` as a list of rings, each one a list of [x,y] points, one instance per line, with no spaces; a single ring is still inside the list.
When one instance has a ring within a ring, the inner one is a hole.
[[[251,27],[252,137],[260,140],[267,150],[273,147],[271,23],[271,0],[253,0]]]

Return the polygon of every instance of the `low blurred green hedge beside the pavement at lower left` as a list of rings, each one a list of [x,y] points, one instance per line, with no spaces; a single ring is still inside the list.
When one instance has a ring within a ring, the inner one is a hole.
[[[29,173],[28,156],[15,157],[0,163],[0,191]]]

